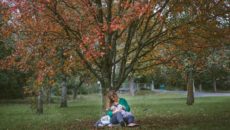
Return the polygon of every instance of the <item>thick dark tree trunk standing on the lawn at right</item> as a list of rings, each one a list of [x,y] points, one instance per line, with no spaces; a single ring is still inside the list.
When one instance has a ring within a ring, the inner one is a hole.
[[[192,71],[189,72],[187,81],[187,105],[193,105],[194,103],[194,90],[193,90],[193,79]]]

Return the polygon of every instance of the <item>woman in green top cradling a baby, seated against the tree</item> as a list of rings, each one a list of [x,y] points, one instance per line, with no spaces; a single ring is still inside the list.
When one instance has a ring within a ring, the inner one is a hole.
[[[121,126],[135,126],[134,116],[130,112],[127,101],[124,98],[119,98],[113,90],[108,93],[108,97],[110,106],[107,109],[107,115],[111,117],[111,123]]]

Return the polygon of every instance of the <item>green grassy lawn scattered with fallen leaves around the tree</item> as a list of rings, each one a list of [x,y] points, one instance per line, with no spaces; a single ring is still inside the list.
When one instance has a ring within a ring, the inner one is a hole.
[[[230,97],[200,97],[193,106],[186,105],[184,95],[139,93],[125,97],[141,126],[135,129],[156,130],[228,130]],[[37,115],[29,104],[0,104],[0,130],[88,130],[99,119],[100,95],[81,96],[69,101],[68,108],[45,105]],[[119,128],[117,128],[119,129]]]

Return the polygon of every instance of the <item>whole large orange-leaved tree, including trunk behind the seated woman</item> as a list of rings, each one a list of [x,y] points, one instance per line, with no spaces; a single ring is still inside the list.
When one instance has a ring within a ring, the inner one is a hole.
[[[9,1],[13,3],[10,10],[15,14],[12,25],[18,36],[13,59],[21,65],[19,68],[28,69],[22,66],[26,66],[28,59],[30,63],[37,63],[32,69],[37,73],[38,83],[42,83],[47,73],[56,70],[54,66],[63,65],[47,62],[57,59],[54,56],[63,62],[80,57],[79,62],[101,83],[103,108],[108,106],[107,92],[118,90],[129,74],[140,67],[144,56],[154,52],[158,46],[167,51],[166,46],[179,38],[178,29],[198,24],[201,19],[205,22],[209,16],[217,17],[226,2]]]

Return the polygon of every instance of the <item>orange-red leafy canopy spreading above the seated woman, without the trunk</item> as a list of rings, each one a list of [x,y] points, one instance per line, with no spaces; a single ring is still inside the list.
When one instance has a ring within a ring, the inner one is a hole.
[[[14,53],[0,65],[33,71],[38,83],[58,73],[71,74],[78,67],[89,69],[100,81],[111,82],[112,68],[120,65],[118,79],[113,79],[119,85],[139,65],[167,63],[178,55],[177,49],[199,53],[210,46],[207,39],[220,37],[221,31],[212,22],[208,27],[216,32],[213,34],[199,26],[215,21],[223,4],[202,0],[8,0],[3,13],[11,24],[3,34],[14,34],[16,44]],[[183,19],[185,13],[189,19]]]

